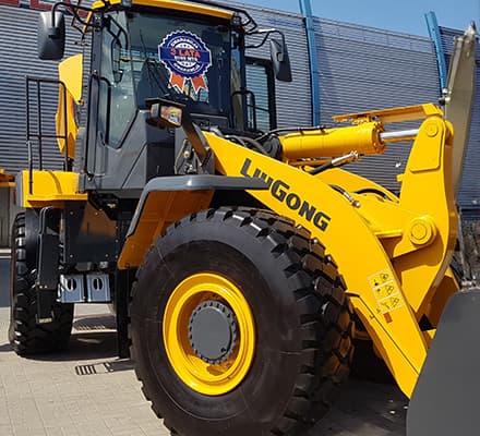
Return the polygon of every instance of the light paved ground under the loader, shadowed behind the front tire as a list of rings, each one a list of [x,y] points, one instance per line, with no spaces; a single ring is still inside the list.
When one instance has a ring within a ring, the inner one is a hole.
[[[5,292],[8,262],[0,261]],[[131,362],[116,358],[105,305],[79,306],[69,351],[36,359],[13,353],[8,320],[9,310],[0,307],[1,436],[168,435],[140,392]],[[405,435],[406,404],[394,386],[352,380],[309,436]]]

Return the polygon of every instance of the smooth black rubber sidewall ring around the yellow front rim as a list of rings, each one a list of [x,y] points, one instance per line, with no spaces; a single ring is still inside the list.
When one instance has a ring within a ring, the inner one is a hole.
[[[304,271],[287,278],[283,264],[288,267],[288,256],[276,258],[271,253],[273,243],[249,234],[250,227],[218,221],[201,226],[191,222],[159,239],[139,275],[132,337],[146,395],[180,435],[271,434],[301,372],[304,354],[293,293],[310,278]],[[194,392],[178,378],[161,337],[160,319],[171,291],[184,278],[208,270],[225,275],[243,291],[256,323],[255,356],[248,376],[238,388],[218,397]]]

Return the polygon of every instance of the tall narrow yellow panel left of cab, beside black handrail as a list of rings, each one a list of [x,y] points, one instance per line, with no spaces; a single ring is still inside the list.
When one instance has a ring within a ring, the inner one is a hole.
[[[65,135],[69,158],[75,157],[75,141],[79,126],[75,120],[75,105],[82,98],[83,55],[75,55],[59,63],[58,108],[55,116],[57,134]],[[65,118],[67,117],[67,118]],[[65,140],[57,138],[61,154],[65,153]]]

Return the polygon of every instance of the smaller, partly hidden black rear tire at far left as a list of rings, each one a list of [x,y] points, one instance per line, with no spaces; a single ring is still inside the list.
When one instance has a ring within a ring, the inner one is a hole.
[[[37,324],[36,253],[26,249],[25,214],[15,217],[11,240],[9,340],[20,355],[63,350],[70,340],[73,304],[57,303],[53,322]]]

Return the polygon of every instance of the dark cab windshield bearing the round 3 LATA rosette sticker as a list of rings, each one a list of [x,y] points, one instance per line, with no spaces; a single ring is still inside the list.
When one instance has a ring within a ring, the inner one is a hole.
[[[230,83],[239,85],[240,73],[227,26],[144,12],[128,12],[127,22],[139,108],[160,97],[187,102],[192,111],[230,113],[237,90]]]

